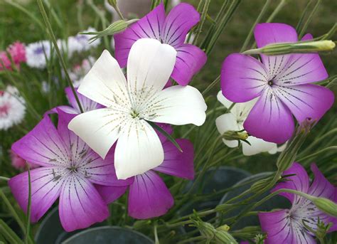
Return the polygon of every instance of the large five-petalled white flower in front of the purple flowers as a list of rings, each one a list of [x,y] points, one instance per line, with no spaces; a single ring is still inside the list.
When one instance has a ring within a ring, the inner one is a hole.
[[[118,139],[118,179],[143,174],[163,162],[163,147],[147,121],[198,126],[205,122],[207,106],[196,88],[175,85],[163,90],[175,63],[174,48],[142,38],[129,53],[127,80],[117,60],[103,51],[78,88],[106,108],[77,115],[68,127],[102,158]]]

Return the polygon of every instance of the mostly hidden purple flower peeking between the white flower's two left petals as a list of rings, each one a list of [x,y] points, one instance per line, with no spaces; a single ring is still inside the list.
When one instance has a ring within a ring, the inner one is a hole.
[[[80,104],[82,106],[83,112],[89,112],[91,110],[97,110],[99,108],[102,108],[104,106],[100,105],[97,102],[94,102],[90,100],[89,98],[85,97],[84,95],[80,94],[77,92],[77,88],[75,88],[76,94],[78,97],[78,100],[80,100]],[[81,113],[80,107],[78,107],[78,104],[75,99],[75,95],[73,91],[71,90],[70,87],[65,88],[65,95],[68,98],[68,102],[70,106],[67,105],[61,105],[58,107],[54,107],[51,112],[58,112],[57,110],[62,110],[63,112],[66,112],[68,114],[74,114],[74,115],[79,115]]]

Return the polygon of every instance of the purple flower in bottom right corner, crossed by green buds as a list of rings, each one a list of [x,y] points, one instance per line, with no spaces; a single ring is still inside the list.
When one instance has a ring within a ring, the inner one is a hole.
[[[289,181],[277,184],[273,191],[294,189],[337,202],[337,188],[326,180],[316,164],[311,164],[311,171],[314,172],[315,179],[310,185],[309,176],[303,166],[294,163],[290,169],[284,171],[284,175],[296,175],[289,176]],[[308,199],[292,193],[280,193],[279,195],[288,198],[292,206],[290,209],[259,213],[262,230],[267,233],[266,244],[316,243],[313,238],[314,233],[307,230],[304,223],[306,223],[306,226],[316,230],[318,220],[323,221],[325,224],[333,223],[329,232],[337,230],[337,218],[326,215]]]

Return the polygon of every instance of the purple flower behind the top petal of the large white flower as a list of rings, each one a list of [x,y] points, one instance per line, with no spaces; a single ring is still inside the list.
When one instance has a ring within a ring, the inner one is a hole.
[[[184,43],[188,31],[199,20],[200,14],[190,4],[178,4],[167,16],[164,4],[159,4],[127,30],[114,35],[115,56],[119,65],[122,68],[127,65],[129,51],[135,41],[140,38],[153,38],[176,49],[176,64],[171,78],[179,85],[187,85],[207,60],[200,48]]]

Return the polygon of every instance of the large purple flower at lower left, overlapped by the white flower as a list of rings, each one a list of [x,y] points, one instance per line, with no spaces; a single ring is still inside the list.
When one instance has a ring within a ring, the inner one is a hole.
[[[109,216],[107,204],[94,184],[125,186],[117,181],[113,154],[103,160],[68,130],[74,115],[58,110],[58,128],[48,116],[12,150],[23,159],[41,166],[31,171],[31,221],[38,221],[60,197],[59,212],[67,231],[86,228]],[[28,172],[10,179],[9,187],[23,211],[27,212]]]

